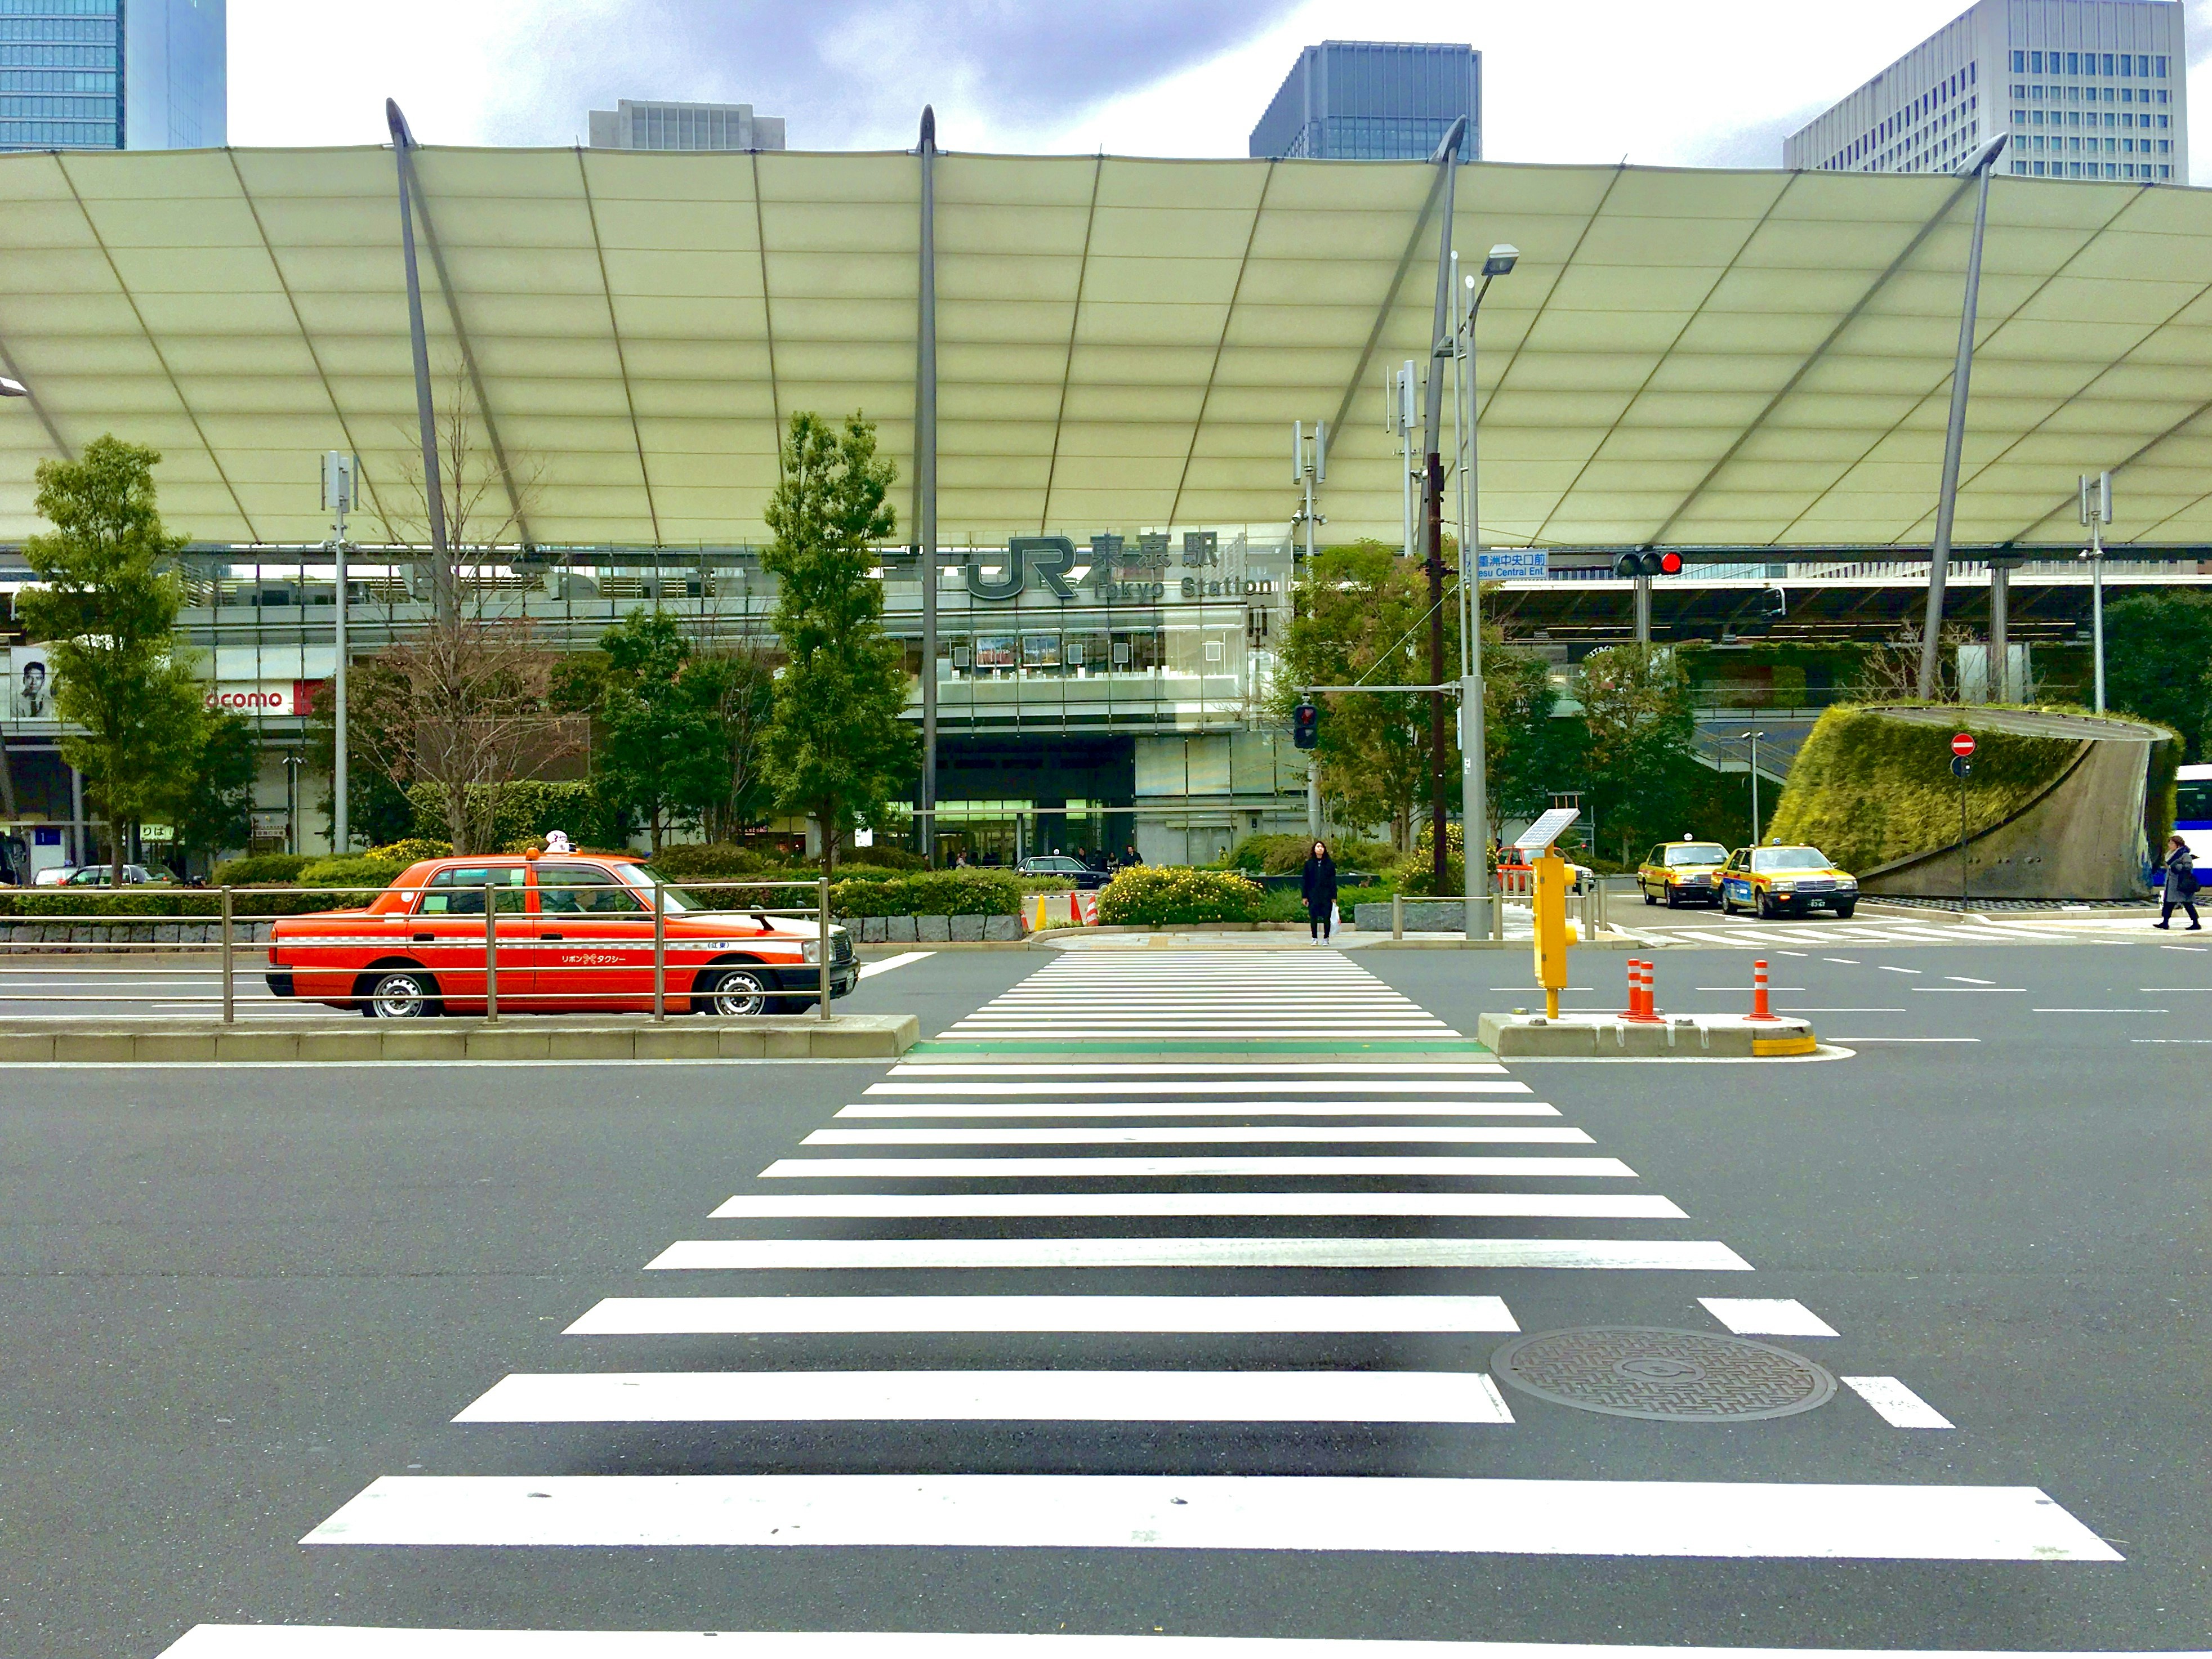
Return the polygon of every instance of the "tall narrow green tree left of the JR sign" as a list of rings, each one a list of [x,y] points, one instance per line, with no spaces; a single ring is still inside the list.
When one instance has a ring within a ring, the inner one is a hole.
[[[763,770],[783,807],[821,825],[825,872],[836,867],[838,838],[874,825],[914,776],[918,743],[900,719],[905,653],[883,633],[883,586],[869,577],[872,544],[896,529],[885,504],[896,476],[858,414],[838,431],[799,411],[768,502],[776,540],[761,564],[781,584],[776,635],[787,661],[763,734]]]

